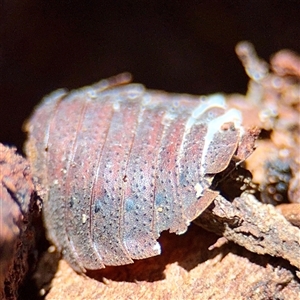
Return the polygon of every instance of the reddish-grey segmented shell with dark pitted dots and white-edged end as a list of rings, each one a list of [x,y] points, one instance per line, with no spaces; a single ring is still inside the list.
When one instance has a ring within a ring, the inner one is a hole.
[[[49,238],[80,272],[160,254],[160,233],[184,233],[215,198],[243,133],[221,95],[140,84],[54,92],[27,130]]]

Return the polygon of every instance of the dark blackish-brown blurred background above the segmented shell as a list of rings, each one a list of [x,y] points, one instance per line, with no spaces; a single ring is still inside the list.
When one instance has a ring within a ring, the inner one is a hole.
[[[244,93],[235,45],[299,53],[299,16],[297,0],[0,0],[0,142],[21,152],[44,95],[124,71],[151,89]]]

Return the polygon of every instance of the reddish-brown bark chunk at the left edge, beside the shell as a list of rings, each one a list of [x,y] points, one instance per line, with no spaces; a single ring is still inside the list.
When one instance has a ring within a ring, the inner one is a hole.
[[[17,299],[34,246],[34,186],[27,161],[0,144],[0,299]]]

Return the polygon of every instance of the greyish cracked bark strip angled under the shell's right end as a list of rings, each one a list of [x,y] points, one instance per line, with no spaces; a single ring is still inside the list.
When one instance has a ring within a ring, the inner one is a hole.
[[[244,193],[232,203],[218,196],[196,223],[251,252],[282,257],[300,269],[299,228],[253,195]]]

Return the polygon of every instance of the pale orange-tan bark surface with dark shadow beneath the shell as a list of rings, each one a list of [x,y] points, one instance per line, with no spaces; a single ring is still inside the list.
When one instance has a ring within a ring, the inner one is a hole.
[[[46,300],[59,299],[298,299],[300,284],[286,261],[228,243],[191,225],[181,236],[164,232],[162,255],[88,276],[63,260]]]

